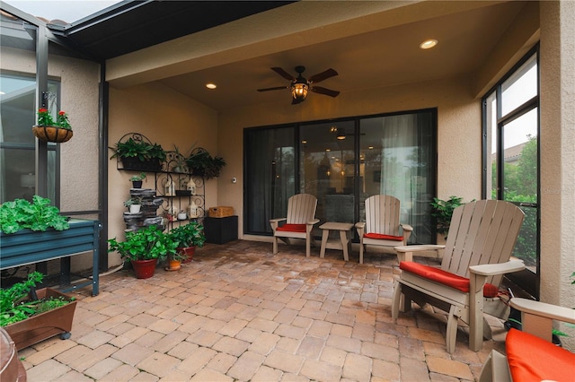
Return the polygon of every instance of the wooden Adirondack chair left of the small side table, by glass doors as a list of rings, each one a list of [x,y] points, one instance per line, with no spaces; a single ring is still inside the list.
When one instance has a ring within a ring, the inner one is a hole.
[[[317,198],[309,194],[293,195],[288,200],[288,216],[285,218],[271,219],[273,230],[273,253],[278,253],[278,238],[289,244],[289,238],[305,239],[305,256],[310,256],[310,247],[314,242],[312,229],[320,220],[315,219],[315,207]],[[286,221],[279,226],[279,221]]]

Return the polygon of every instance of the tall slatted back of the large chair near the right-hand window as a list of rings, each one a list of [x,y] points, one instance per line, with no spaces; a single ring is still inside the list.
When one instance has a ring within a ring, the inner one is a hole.
[[[447,232],[441,268],[469,277],[469,266],[505,263],[513,253],[525,213],[502,200],[480,200],[457,207]],[[499,285],[503,275],[488,278]]]

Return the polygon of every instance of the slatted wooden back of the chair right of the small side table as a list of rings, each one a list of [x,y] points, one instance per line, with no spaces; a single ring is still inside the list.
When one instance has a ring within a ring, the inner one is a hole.
[[[373,195],[366,199],[366,233],[399,236],[400,202],[391,195]]]

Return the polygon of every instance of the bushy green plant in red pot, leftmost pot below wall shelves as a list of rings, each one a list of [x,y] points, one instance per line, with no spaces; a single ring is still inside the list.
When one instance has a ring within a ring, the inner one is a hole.
[[[155,225],[140,230],[126,232],[126,239],[109,239],[108,252],[117,251],[119,256],[128,259],[134,267],[138,279],[147,279],[155,273],[158,260],[176,253],[177,243]]]

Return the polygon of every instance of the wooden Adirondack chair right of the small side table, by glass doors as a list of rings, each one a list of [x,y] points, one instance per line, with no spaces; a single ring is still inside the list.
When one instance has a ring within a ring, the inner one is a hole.
[[[359,236],[359,264],[363,264],[365,246],[407,245],[413,228],[399,222],[399,199],[390,195],[373,195],[366,199],[366,221],[356,223]],[[400,228],[402,235],[400,235]]]

